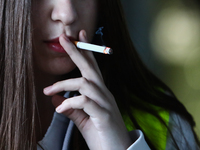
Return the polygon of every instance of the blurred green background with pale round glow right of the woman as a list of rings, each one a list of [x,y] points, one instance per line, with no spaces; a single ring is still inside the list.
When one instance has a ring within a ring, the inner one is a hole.
[[[142,60],[175,93],[200,137],[200,2],[122,0]]]

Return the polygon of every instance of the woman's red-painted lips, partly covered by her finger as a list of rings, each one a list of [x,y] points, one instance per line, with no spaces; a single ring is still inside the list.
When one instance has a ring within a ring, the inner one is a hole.
[[[59,52],[59,53],[66,53],[64,48],[60,45],[59,37],[52,39],[52,40],[44,41],[44,42],[53,51],[56,51],[56,52]]]

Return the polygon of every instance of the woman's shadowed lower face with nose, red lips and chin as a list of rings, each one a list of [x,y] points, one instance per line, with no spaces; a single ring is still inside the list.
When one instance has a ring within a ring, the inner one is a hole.
[[[32,15],[36,68],[51,75],[73,70],[75,64],[60,48],[58,37],[64,33],[79,40],[84,29],[90,42],[96,29],[97,0],[35,0]]]

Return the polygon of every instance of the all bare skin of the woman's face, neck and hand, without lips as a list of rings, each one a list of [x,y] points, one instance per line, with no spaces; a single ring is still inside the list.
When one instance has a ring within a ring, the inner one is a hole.
[[[46,131],[51,121],[52,97],[56,111],[74,121],[90,149],[124,150],[132,143],[95,58],[92,52],[78,50],[68,38],[90,42],[97,10],[97,0],[38,0],[33,5],[37,97],[41,118],[48,122],[42,128]],[[59,37],[66,54],[51,51],[42,42],[55,37]],[[82,76],[63,80],[63,75],[75,67]],[[42,88],[51,97],[42,94]],[[63,91],[79,91],[81,95],[65,99],[58,95]]]

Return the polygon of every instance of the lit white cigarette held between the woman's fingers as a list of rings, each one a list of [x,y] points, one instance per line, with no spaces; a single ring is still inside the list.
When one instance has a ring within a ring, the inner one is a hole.
[[[80,41],[73,41],[73,43],[76,45],[77,48],[80,48],[80,49],[98,52],[98,53],[104,53],[104,54],[112,54],[113,53],[113,50],[110,47],[99,46],[99,45],[84,43],[84,42],[80,42]]]

